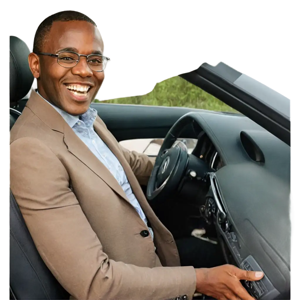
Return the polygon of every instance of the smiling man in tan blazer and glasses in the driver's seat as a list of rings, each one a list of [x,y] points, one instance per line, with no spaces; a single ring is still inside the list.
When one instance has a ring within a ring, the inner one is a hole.
[[[261,273],[180,266],[140,187],[152,162],[122,148],[89,108],[104,82],[102,47],[77,11],[49,14],[34,34],[38,88],[11,130],[10,187],[41,257],[77,299],[252,299],[239,280]]]

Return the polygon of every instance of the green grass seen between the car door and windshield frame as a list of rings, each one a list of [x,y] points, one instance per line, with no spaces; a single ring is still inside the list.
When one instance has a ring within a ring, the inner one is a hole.
[[[176,106],[235,112],[222,101],[176,75],[158,80],[152,89],[144,94],[116,96],[105,101],[95,99],[95,102]]]

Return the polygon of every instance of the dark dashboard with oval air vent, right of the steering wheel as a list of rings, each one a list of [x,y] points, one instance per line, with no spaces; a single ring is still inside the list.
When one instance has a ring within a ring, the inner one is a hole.
[[[254,298],[289,298],[290,147],[247,117],[197,115],[192,154],[213,169],[203,216],[215,223],[224,255],[265,273],[257,283],[245,282]]]

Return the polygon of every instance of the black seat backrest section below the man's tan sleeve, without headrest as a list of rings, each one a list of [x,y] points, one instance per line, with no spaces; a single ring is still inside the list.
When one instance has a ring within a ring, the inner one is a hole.
[[[10,191],[10,289],[15,299],[69,299],[49,271]]]

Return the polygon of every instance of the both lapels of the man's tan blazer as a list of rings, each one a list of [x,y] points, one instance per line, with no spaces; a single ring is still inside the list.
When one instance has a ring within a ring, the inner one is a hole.
[[[99,161],[99,159],[91,152],[91,150],[88,149],[88,147],[79,139],[79,137],[77,137],[75,132],[72,130],[72,128],[70,128],[67,122],[64,121],[61,115],[46,101],[44,101],[33,89],[30,93],[26,106],[52,130],[61,132],[64,135],[64,143],[67,146],[68,151],[77,159],[79,159],[79,161],[85,164],[85,166],[99,176],[108,186],[110,186],[111,189],[113,189],[119,196],[121,196],[131,205],[121,185],[110,173],[107,167],[105,167],[104,164],[102,164],[101,161]],[[97,119],[98,118],[99,117],[97,117]],[[137,197],[146,216],[150,219],[150,222],[152,222],[151,219],[156,219],[154,212],[148,204],[137,178],[131,170],[131,167],[127,162],[122,150],[118,147],[118,142],[111,136],[106,128],[101,126],[97,119],[94,123],[94,129],[96,133],[119,160],[125,171],[134,195]]]

